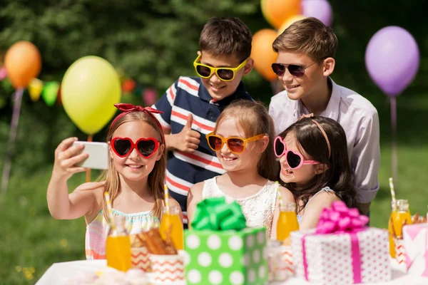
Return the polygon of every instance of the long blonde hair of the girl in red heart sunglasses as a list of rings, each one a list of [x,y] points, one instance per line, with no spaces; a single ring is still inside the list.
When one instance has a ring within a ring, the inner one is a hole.
[[[159,135],[159,138],[163,141],[163,131],[158,127],[158,124],[155,121],[156,119],[152,118],[150,115],[144,112],[131,112],[123,115],[118,120],[113,121],[110,129],[107,134],[107,141],[111,142],[113,138],[113,133],[119,128],[120,125],[133,121],[143,121],[148,123],[156,130]],[[162,142],[164,143],[164,142]],[[109,158],[108,170],[104,170],[98,180],[105,180],[104,191],[107,191],[110,195],[112,206],[116,197],[118,197],[121,192],[121,180],[119,180],[119,174],[114,167],[113,158]],[[159,219],[161,219],[162,214],[162,205],[163,200],[165,199],[163,192],[163,185],[165,184],[165,169],[166,169],[166,148],[163,150],[163,154],[161,159],[158,160],[153,167],[152,172],[148,175],[148,190],[151,191],[153,198],[155,199],[155,205],[151,210],[153,214],[156,215]],[[106,200],[103,199],[102,209],[104,217],[108,220],[108,210]]]

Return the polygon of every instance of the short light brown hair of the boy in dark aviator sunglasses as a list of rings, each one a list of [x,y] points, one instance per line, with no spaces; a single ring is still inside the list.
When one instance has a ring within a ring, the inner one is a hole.
[[[286,28],[272,43],[272,48],[276,53],[304,53],[317,61],[320,58],[334,58],[337,44],[337,36],[332,28],[316,18],[309,17],[295,21]]]

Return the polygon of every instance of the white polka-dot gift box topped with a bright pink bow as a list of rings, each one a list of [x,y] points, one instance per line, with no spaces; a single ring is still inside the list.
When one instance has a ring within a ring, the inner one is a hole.
[[[365,227],[367,222],[357,209],[334,202],[316,229],[292,232],[296,276],[319,285],[389,281],[388,232]]]

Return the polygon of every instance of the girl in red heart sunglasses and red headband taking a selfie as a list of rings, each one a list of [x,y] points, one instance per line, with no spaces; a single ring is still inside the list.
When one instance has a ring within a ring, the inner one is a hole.
[[[108,170],[97,182],[84,183],[68,194],[67,180],[85,171],[76,163],[86,159],[76,138],[63,140],[55,151],[54,170],[47,199],[56,219],[86,219],[87,259],[106,258],[108,208],[104,192],[111,197],[113,217],[125,217],[128,233],[138,233],[158,224],[164,204],[166,152],[165,138],[153,108],[116,104],[123,111],[111,123],[107,142],[110,148]],[[169,198],[169,207],[178,203]]]

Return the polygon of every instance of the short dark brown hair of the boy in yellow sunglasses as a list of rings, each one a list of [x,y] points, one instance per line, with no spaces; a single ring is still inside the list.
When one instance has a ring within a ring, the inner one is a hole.
[[[200,51],[213,56],[236,56],[240,62],[251,54],[250,29],[238,18],[212,18],[200,33]]]

